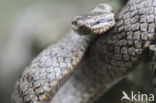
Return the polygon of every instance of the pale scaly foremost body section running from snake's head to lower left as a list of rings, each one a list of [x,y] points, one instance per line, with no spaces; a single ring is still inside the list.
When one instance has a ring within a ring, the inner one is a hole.
[[[17,81],[14,102],[50,101],[74,71],[90,41],[89,36],[71,32],[61,42],[41,52]]]

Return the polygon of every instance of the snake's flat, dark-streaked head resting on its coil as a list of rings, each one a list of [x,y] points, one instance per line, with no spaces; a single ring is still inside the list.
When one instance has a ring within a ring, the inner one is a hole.
[[[72,21],[72,28],[79,34],[102,34],[115,24],[111,6],[99,4],[90,12],[77,16]]]

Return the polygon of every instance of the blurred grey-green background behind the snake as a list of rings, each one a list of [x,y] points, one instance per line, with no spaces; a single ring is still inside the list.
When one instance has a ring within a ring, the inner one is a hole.
[[[76,15],[99,3],[112,5],[118,13],[126,1],[0,0],[0,103],[11,102],[15,80],[24,67],[40,51],[64,37]],[[148,72],[146,64],[140,65],[97,103],[120,103],[123,90],[151,93]]]

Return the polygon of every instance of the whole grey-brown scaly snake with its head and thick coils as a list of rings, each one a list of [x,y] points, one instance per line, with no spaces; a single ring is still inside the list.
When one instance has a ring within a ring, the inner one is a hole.
[[[71,32],[43,50],[15,83],[12,103],[93,103],[142,60],[156,86],[156,0],[108,4],[72,21]]]

